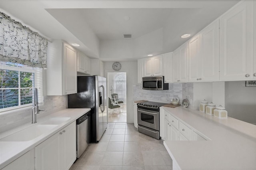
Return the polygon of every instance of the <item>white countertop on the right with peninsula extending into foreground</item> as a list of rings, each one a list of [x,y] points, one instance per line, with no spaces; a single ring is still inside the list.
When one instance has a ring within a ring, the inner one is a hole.
[[[211,140],[164,141],[181,169],[256,169],[256,126],[228,117],[219,119],[183,107],[163,107]]]

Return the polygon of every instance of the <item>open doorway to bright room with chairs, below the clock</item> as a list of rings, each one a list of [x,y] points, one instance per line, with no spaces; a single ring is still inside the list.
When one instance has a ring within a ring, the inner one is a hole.
[[[126,72],[108,73],[108,122],[126,122]]]

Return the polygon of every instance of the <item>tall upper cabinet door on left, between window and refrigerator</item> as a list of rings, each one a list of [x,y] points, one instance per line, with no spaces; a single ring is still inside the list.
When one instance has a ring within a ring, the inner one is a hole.
[[[76,49],[63,43],[63,94],[77,93]]]

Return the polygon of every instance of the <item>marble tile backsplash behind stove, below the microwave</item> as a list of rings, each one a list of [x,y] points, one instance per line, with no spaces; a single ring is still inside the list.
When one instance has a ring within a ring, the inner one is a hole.
[[[142,84],[133,85],[133,99],[144,99],[148,101],[171,103],[173,97],[193,99],[193,83],[169,83],[169,90],[143,90]]]

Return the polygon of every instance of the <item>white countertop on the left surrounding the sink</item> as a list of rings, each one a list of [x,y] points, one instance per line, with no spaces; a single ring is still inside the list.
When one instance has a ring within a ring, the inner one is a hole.
[[[22,141],[22,142],[5,142],[0,140],[0,169],[4,166],[10,164],[12,161],[17,159],[18,157],[22,156],[62,128],[68,126],[70,123],[76,121],[79,117],[90,111],[91,109],[63,109],[61,111],[58,111],[56,113],[47,115],[45,117],[38,118],[37,123],[26,123],[25,125],[22,125],[21,127],[14,128],[12,130],[8,130],[6,132],[1,133],[1,138],[4,138],[5,136],[8,136],[14,132],[20,131],[24,128],[31,127],[33,125],[40,124],[42,121],[45,121],[46,119],[50,119],[52,117],[70,117],[67,121],[61,123],[60,125],[52,128],[49,130],[48,133],[44,133],[37,138],[34,138],[33,140],[29,141]]]

